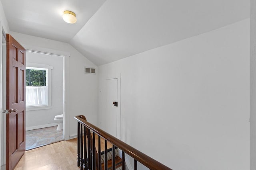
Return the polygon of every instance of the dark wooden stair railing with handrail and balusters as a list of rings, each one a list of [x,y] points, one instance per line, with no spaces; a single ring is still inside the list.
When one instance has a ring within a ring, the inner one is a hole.
[[[122,170],[125,170],[125,153],[134,158],[134,170],[137,170],[137,161],[149,168],[150,170],[172,170],[140,152],[139,150],[131,147],[130,145],[120,141],[116,137],[106,133],[102,129],[92,125],[86,121],[84,115],[75,117],[78,121],[78,147],[77,147],[77,166],[80,170],[102,170],[100,159],[100,138],[105,139],[105,159],[104,170],[108,169],[107,161],[107,141],[112,144],[112,170],[116,170],[115,164],[115,148],[122,150]],[[92,135],[91,134],[92,131]],[[98,153],[95,146],[95,133],[98,135]],[[83,140],[83,135],[84,140]],[[87,140],[86,140],[87,138]]]

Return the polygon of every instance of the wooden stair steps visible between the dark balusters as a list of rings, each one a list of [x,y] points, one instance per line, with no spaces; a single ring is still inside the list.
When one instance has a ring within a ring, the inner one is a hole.
[[[91,134],[92,135],[92,134]],[[102,170],[104,170],[104,160],[105,160],[105,151],[104,151],[104,142],[105,140],[100,138],[100,143],[101,143],[101,147],[100,147],[100,162],[101,162],[101,166],[102,166]],[[98,150],[98,135],[95,134],[95,147],[96,150]],[[116,170],[122,170],[122,158],[120,158],[118,156],[118,148],[115,147],[115,163],[116,163]],[[107,142],[107,160],[108,160],[108,170],[112,170],[112,144]]]

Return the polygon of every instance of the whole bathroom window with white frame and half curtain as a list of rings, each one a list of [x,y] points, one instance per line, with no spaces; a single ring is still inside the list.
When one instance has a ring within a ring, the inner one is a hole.
[[[26,110],[51,108],[52,66],[26,63]]]

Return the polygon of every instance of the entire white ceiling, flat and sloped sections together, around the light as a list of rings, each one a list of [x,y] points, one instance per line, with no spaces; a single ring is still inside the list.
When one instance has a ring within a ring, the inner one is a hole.
[[[250,16],[250,0],[1,1],[11,31],[68,42],[96,65]],[[62,20],[64,10],[77,14],[76,24]]]

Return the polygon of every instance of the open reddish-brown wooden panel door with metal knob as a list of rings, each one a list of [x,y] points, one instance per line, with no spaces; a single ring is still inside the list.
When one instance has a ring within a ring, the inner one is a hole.
[[[7,34],[6,59],[6,170],[12,170],[25,152],[25,49]]]

